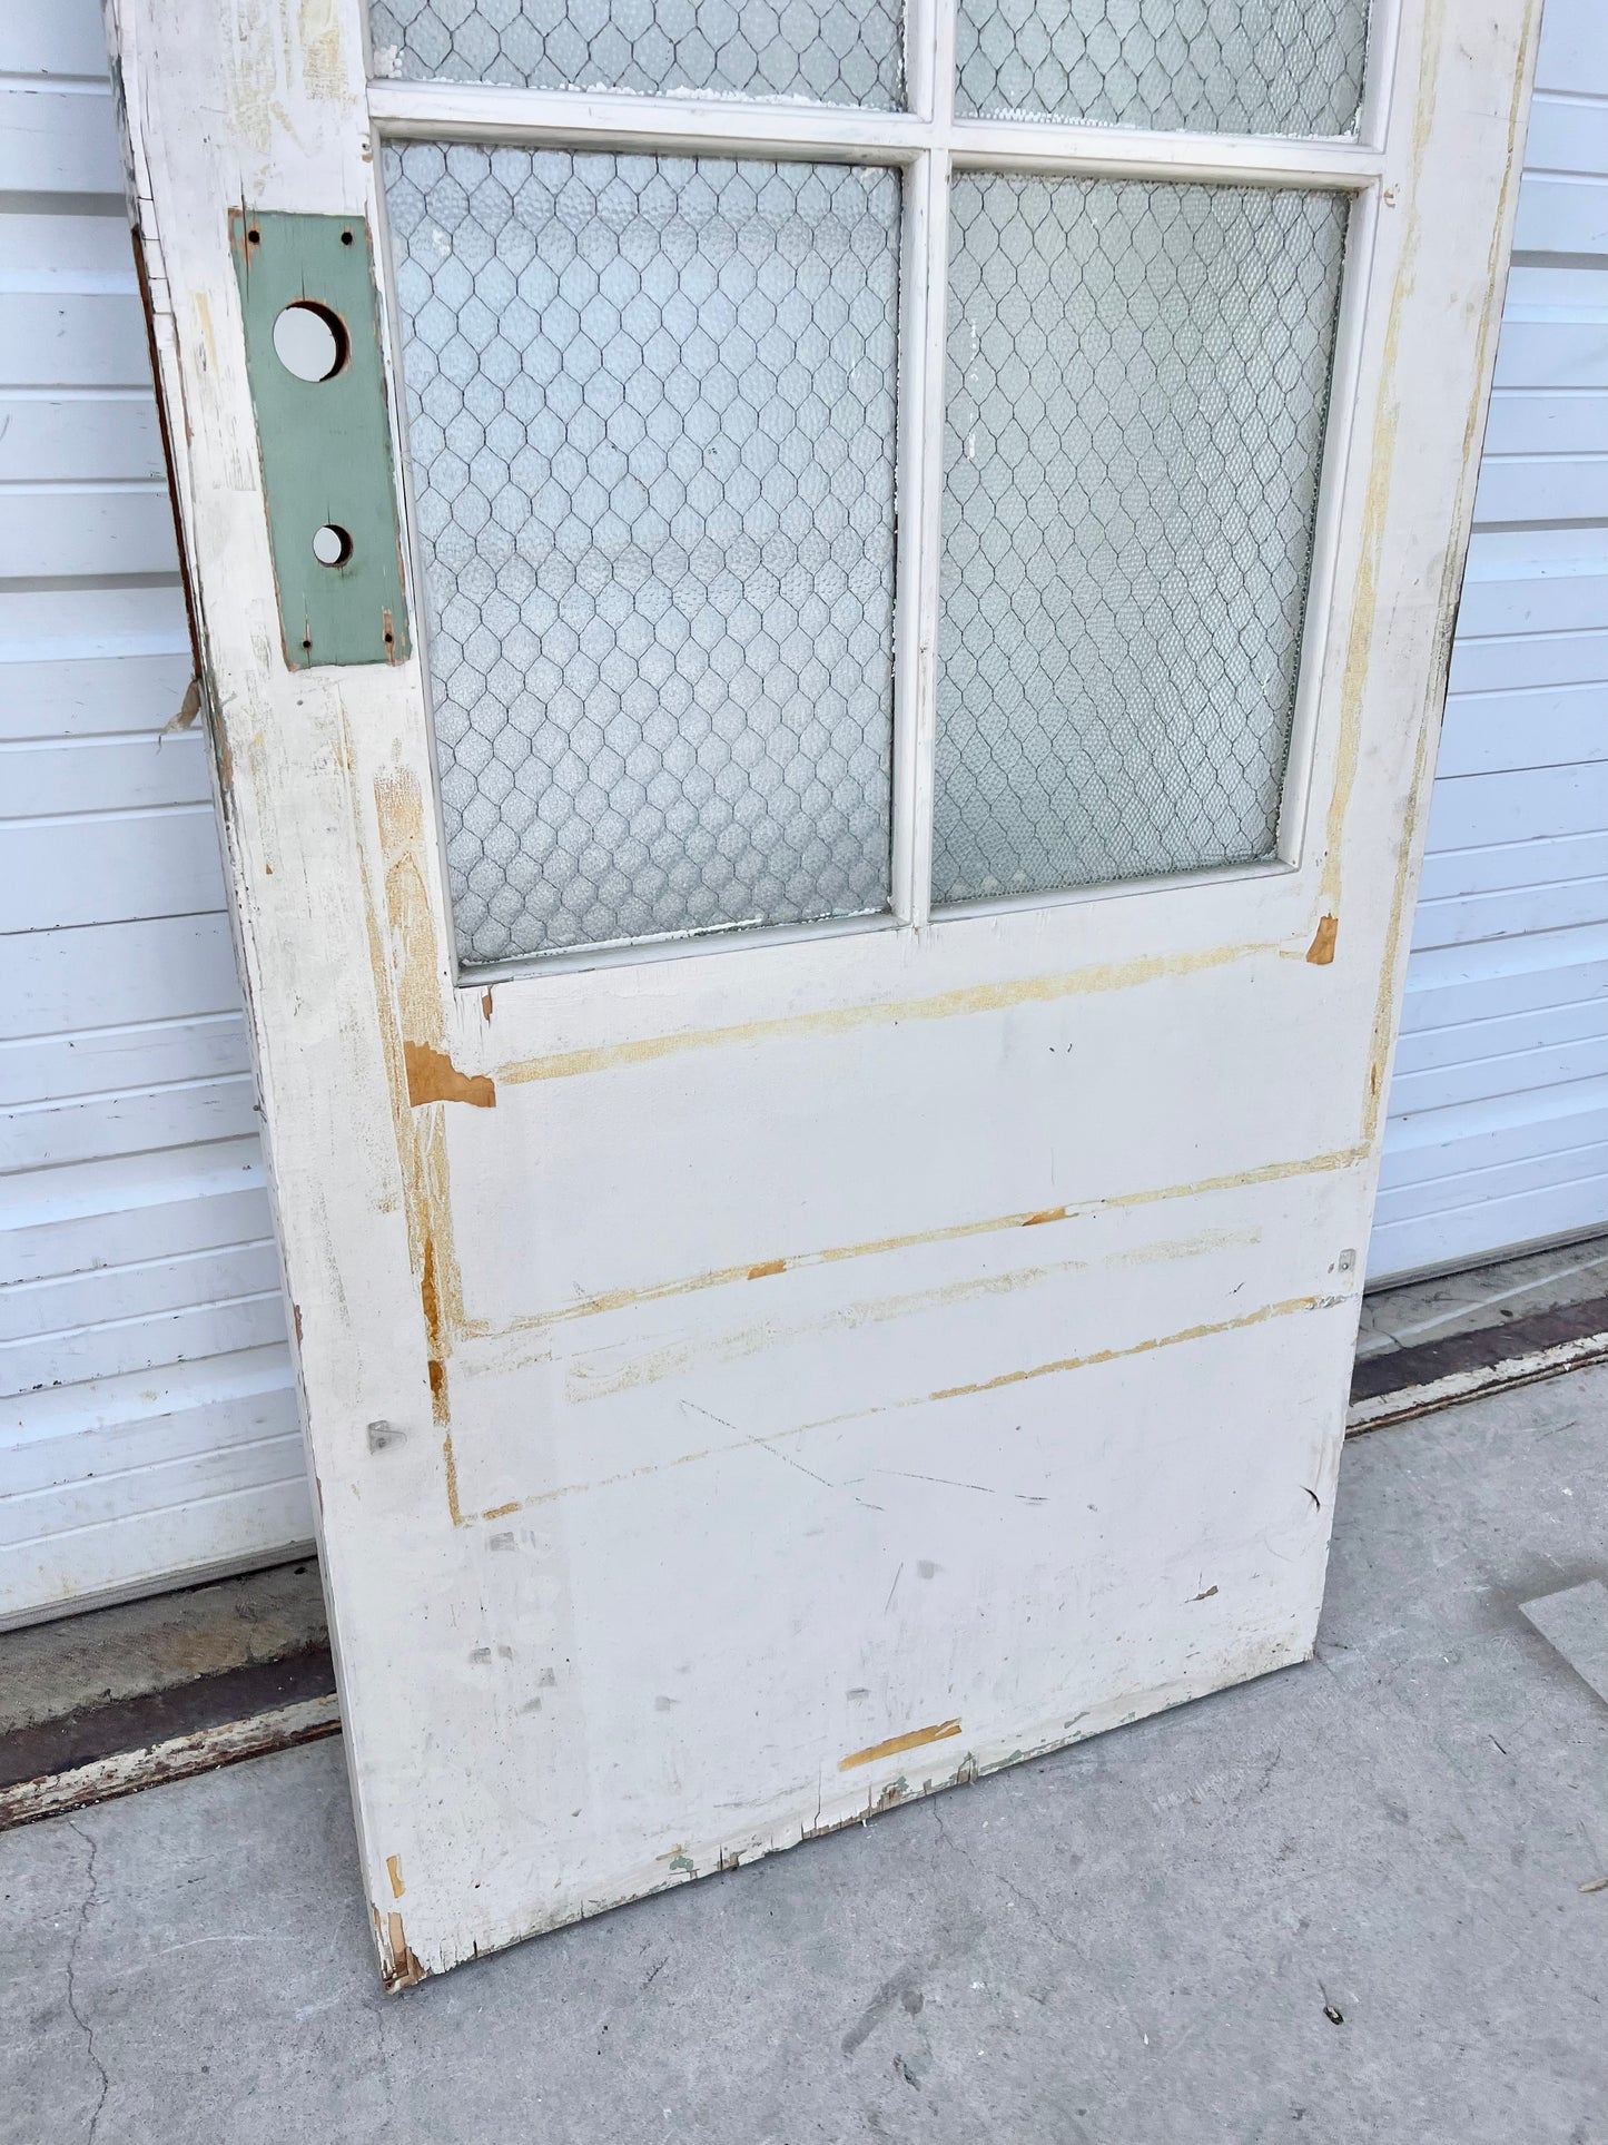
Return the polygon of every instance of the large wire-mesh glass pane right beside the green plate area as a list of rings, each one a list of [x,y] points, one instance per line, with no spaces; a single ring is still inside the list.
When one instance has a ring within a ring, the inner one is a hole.
[[[885,907],[896,176],[384,157],[461,959]]]

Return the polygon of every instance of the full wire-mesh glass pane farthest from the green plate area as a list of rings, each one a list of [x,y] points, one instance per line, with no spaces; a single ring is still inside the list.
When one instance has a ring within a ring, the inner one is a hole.
[[[954,180],[933,899],[1271,856],[1346,199]]]

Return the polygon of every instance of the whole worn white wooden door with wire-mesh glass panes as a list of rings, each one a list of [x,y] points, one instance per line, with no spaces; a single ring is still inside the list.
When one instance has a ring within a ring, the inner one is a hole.
[[[1198,13],[114,6],[392,1980],[1310,1650],[1531,11]]]

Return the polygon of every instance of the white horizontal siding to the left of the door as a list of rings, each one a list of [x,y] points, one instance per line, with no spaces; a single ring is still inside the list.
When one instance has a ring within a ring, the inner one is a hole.
[[[94,0],[0,11],[0,1622],[311,1534]]]

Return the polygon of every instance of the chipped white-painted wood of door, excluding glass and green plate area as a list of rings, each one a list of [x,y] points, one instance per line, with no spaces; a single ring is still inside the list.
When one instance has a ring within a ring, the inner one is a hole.
[[[1351,163],[1278,146],[1361,199],[1282,869],[487,991],[418,663],[274,652],[225,219],[375,214],[356,0],[317,64],[292,0],[114,0],[388,1978],[1308,1654],[1531,15],[1406,0]]]

